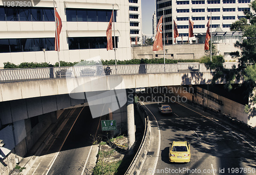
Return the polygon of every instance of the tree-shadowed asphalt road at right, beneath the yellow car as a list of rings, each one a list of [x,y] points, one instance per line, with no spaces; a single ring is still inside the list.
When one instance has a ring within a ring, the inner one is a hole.
[[[209,171],[216,169],[216,174],[218,174],[220,168],[221,170],[225,168],[227,171],[228,168],[230,170],[231,168],[255,167],[253,163],[255,162],[255,151],[253,148],[248,144],[239,147],[239,143],[243,143],[243,140],[234,137],[229,130],[178,104],[170,104],[177,116],[159,115],[158,110],[156,110],[158,106],[158,104],[148,105],[148,108],[152,110],[159,122],[162,138],[161,155],[166,155],[162,157],[162,159],[159,159],[159,161],[161,160],[169,164],[167,158],[168,143],[170,141],[187,140],[191,143],[192,157],[191,162],[188,163],[190,164],[190,169],[195,169],[195,167]],[[247,166],[244,166],[245,163]],[[166,167],[160,162],[158,165],[160,165],[160,167],[158,167],[160,169]],[[172,168],[183,167],[188,168],[188,165],[175,164]],[[210,171],[210,173],[212,172]],[[240,174],[246,173],[241,172]]]

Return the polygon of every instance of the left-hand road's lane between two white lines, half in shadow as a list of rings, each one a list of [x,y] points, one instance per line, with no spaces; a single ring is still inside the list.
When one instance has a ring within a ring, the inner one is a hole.
[[[84,108],[58,154],[49,174],[81,174],[86,163],[99,117],[93,119],[89,108]]]

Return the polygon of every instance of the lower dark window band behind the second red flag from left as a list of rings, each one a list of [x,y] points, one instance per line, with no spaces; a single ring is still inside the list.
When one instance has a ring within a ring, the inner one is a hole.
[[[115,45],[114,37],[113,39],[113,47]],[[106,48],[106,37],[70,37],[69,41],[69,49],[94,49],[94,48]],[[118,43],[118,37],[116,37],[116,47]]]

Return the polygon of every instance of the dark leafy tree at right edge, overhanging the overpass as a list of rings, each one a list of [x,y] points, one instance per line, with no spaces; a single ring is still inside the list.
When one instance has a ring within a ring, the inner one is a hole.
[[[243,80],[244,84],[247,87],[247,92],[250,94],[250,102],[251,105],[247,107],[248,112],[252,112],[253,105],[255,105],[255,85],[256,85],[256,1],[251,2],[251,9],[254,12],[245,11],[244,14],[246,18],[249,20],[247,23],[247,19],[241,18],[238,21],[235,21],[231,24],[230,30],[232,31],[243,31],[244,39],[242,42],[237,41],[234,46],[241,49],[241,53],[234,52],[232,56],[236,56],[239,60],[238,67],[233,67],[231,70],[225,69],[222,64],[218,64],[217,67],[214,64],[206,63],[211,69],[216,69],[214,78],[212,80],[215,83],[217,80],[225,81],[226,87],[229,89],[232,88],[232,84],[236,82],[235,80]],[[250,63],[250,64],[248,64]]]

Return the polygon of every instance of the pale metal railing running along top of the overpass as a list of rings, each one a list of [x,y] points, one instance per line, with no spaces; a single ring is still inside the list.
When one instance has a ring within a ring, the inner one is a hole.
[[[231,69],[239,63],[224,63]],[[105,76],[138,73],[209,72],[202,63],[178,64],[131,64],[131,65],[88,65],[71,67],[42,67],[1,69],[0,83],[45,80],[66,77]]]

